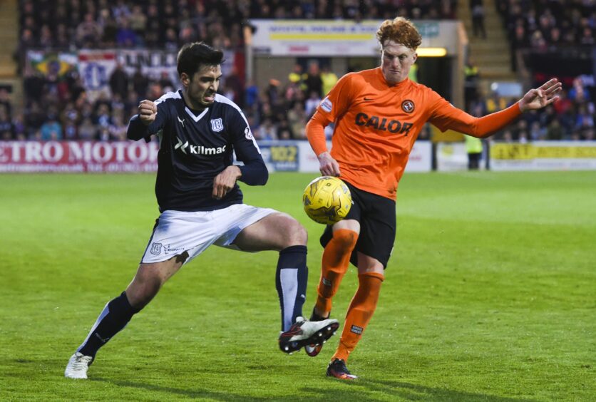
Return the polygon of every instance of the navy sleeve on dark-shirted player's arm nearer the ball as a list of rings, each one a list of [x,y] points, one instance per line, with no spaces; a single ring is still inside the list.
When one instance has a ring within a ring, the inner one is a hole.
[[[228,124],[236,158],[244,163],[238,167],[242,173],[239,180],[247,185],[264,185],[269,180],[269,171],[245,116],[240,110],[233,110]]]

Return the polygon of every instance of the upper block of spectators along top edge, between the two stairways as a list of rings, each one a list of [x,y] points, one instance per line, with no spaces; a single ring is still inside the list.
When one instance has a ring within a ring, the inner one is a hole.
[[[250,19],[454,19],[456,0],[21,0],[21,48],[239,48]]]

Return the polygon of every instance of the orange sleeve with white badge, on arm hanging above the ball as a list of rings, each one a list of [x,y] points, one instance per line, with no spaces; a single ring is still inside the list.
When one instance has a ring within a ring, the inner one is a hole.
[[[351,74],[341,77],[307,123],[306,133],[315,155],[327,151],[325,127],[344,114],[351,104]]]

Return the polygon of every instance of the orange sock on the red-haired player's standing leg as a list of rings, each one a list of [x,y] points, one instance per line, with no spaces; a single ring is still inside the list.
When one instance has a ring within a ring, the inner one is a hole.
[[[348,360],[349,354],[356,348],[362,333],[369,324],[376,309],[376,302],[379,300],[383,274],[377,272],[365,272],[358,275],[358,290],[351,299],[344,329],[341,331],[339,346],[332,359]]]

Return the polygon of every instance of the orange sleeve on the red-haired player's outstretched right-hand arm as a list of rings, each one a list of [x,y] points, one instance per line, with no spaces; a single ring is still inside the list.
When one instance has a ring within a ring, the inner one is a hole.
[[[476,138],[490,137],[521,115],[519,103],[514,103],[504,110],[477,118],[451,105],[434,91],[431,91],[431,105],[430,123],[441,131],[451,129]]]

